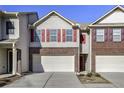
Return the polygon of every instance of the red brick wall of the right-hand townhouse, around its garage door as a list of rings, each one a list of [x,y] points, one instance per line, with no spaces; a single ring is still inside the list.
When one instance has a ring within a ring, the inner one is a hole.
[[[94,39],[94,31],[92,31],[92,71],[95,71],[96,55],[124,55],[124,40],[113,42],[107,39],[103,43],[98,43]]]

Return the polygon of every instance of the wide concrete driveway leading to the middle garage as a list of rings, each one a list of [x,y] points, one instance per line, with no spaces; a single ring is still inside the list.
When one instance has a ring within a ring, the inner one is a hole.
[[[84,87],[75,73],[36,73],[22,77],[13,83],[4,86],[17,88],[81,88]]]

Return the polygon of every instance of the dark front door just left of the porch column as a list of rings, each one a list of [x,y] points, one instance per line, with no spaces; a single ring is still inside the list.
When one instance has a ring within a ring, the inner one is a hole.
[[[13,67],[13,53],[12,50],[8,50],[8,73],[12,73]]]

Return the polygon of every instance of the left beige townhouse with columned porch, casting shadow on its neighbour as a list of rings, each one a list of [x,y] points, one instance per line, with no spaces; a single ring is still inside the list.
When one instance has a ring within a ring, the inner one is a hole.
[[[32,12],[0,12],[0,74],[29,70],[28,24],[37,19]]]

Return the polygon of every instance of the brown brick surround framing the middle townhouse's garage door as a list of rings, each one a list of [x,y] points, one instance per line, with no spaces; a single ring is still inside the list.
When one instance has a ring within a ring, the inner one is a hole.
[[[29,48],[29,70],[32,71],[33,54],[41,56],[72,56],[75,55],[75,72],[79,72],[78,48]]]

